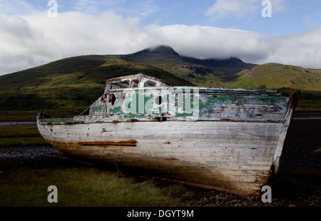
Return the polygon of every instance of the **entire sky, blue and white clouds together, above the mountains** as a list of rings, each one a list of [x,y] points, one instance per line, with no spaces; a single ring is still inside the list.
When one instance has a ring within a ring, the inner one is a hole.
[[[165,44],[185,56],[321,68],[321,0],[0,0],[0,75]]]

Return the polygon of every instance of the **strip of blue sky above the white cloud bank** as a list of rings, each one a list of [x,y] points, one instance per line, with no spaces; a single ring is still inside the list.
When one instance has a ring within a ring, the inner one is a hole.
[[[321,26],[320,0],[270,0],[272,17],[264,18],[262,0],[223,0],[226,4],[240,2],[238,9],[218,6],[215,0],[56,0],[58,12],[78,11],[85,14],[99,14],[114,11],[123,17],[138,18],[142,26],[158,24],[160,26],[185,24],[188,26],[215,26],[224,29],[243,29],[261,34],[285,35]],[[18,3],[16,3],[18,2]],[[8,14],[27,14],[30,9],[23,1],[12,1],[17,5]],[[47,0],[25,1],[32,9],[47,10]],[[217,4],[220,13],[208,13]],[[19,9],[20,7],[20,9]],[[24,9],[27,8],[27,9]],[[251,8],[251,9],[249,9]]]

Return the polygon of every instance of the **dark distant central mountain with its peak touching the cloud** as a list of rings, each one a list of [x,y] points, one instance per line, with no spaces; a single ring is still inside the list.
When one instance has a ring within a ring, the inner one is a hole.
[[[173,73],[198,86],[224,86],[245,68],[257,65],[238,58],[198,59],[180,56],[170,46],[156,46],[121,56],[125,61],[143,63]]]

